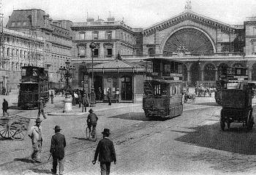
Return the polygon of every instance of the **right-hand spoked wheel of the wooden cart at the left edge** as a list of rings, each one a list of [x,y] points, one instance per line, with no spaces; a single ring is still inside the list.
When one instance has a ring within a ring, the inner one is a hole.
[[[20,127],[20,123],[12,123],[10,131],[13,140],[23,140],[26,136],[26,128]]]

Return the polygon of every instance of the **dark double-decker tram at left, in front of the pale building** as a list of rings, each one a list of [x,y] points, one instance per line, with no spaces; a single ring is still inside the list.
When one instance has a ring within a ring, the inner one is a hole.
[[[18,96],[20,109],[38,108],[39,98],[44,104],[49,100],[48,71],[37,66],[23,66]]]

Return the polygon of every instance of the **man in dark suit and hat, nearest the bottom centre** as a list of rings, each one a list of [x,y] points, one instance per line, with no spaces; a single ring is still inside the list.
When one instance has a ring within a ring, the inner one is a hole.
[[[111,162],[114,162],[116,164],[116,152],[113,141],[110,141],[110,139],[108,139],[108,136],[110,135],[110,130],[105,128],[102,134],[103,139],[99,141],[97,145],[94,160],[92,161],[92,163],[96,163],[97,157],[99,155],[101,174],[108,175],[110,174]]]

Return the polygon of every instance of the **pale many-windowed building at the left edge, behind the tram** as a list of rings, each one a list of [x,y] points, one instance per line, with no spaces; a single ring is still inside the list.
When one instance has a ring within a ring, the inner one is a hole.
[[[3,28],[0,44],[0,93],[17,90],[22,66],[43,66],[45,39]]]

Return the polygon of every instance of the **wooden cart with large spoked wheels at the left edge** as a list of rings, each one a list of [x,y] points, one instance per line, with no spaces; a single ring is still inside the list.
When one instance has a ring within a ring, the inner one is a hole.
[[[0,136],[4,139],[23,140],[28,131],[30,118],[10,114],[0,117]]]

